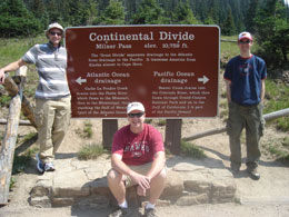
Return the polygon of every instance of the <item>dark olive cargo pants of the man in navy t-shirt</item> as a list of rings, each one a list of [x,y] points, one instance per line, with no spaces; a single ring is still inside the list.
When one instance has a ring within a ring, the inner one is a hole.
[[[230,139],[230,160],[232,169],[238,169],[241,166],[240,137],[243,128],[246,128],[246,165],[249,169],[255,169],[258,167],[258,161],[261,156],[259,141],[265,129],[261,103],[249,107],[240,106],[236,102],[229,103],[227,134]]]

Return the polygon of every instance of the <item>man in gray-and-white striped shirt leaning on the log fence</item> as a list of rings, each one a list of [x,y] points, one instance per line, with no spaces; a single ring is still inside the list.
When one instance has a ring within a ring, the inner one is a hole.
[[[57,22],[51,23],[46,36],[48,43],[33,46],[21,59],[0,69],[0,83],[2,83],[7,71],[16,71],[27,63],[37,67],[39,83],[36,90],[34,115],[40,145],[37,168],[41,174],[54,170],[54,154],[64,139],[71,114],[67,50],[60,45],[63,28]]]

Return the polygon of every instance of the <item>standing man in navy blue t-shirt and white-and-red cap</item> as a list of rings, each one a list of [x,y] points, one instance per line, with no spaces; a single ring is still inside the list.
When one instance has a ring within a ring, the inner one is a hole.
[[[236,176],[241,166],[240,136],[246,128],[247,171],[258,180],[258,160],[261,156],[259,140],[263,134],[262,107],[265,98],[265,61],[251,55],[252,36],[241,32],[238,37],[240,56],[232,58],[223,75],[227,83],[229,119],[227,132],[230,138],[231,170]]]

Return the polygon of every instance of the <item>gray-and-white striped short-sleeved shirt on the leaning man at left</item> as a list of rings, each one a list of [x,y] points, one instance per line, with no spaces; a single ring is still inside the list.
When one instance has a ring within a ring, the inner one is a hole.
[[[67,81],[67,49],[54,48],[52,43],[33,46],[22,57],[27,63],[34,63],[39,75],[36,98],[60,99],[70,95]]]

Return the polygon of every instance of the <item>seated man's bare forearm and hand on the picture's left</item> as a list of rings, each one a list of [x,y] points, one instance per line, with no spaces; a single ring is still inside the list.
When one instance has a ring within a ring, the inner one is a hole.
[[[131,179],[138,184],[144,191],[146,189],[150,188],[150,180],[142,176],[141,174],[138,174],[133,170],[131,170],[123,161],[122,156],[119,154],[112,154],[111,156],[111,166],[113,169],[116,169],[118,172],[127,175],[131,177]]]

